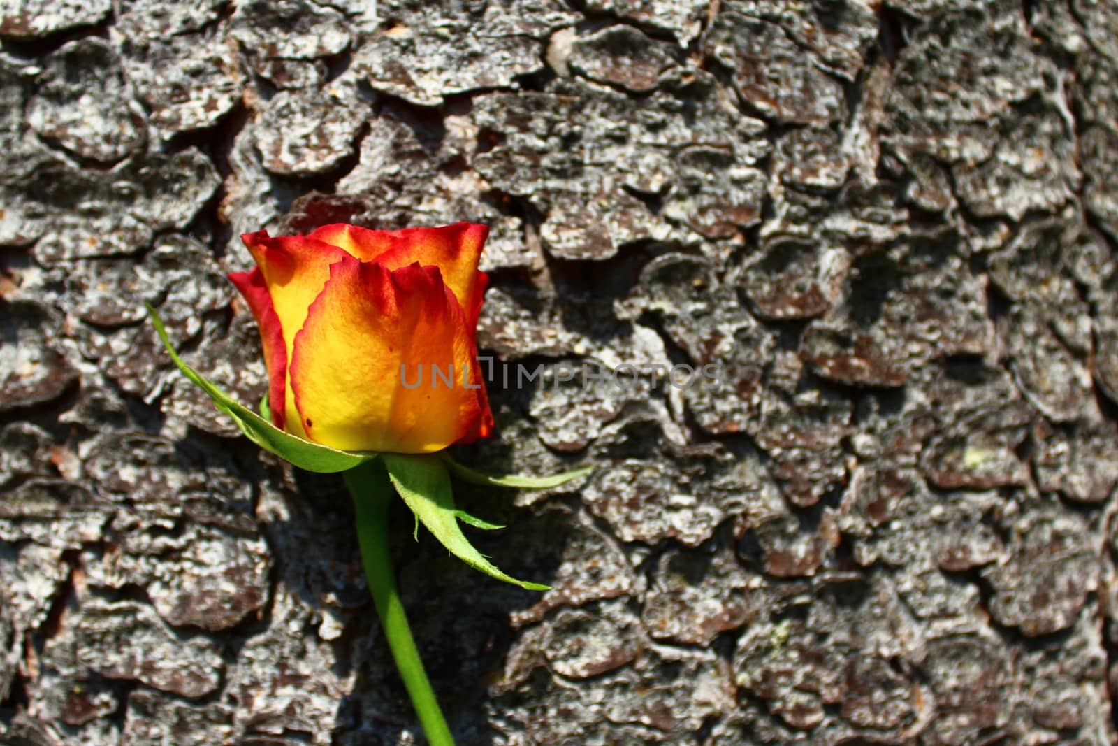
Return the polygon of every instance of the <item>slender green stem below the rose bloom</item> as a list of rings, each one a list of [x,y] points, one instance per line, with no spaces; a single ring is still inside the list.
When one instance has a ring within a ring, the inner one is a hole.
[[[408,617],[404,614],[400,594],[396,588],[396,574],[392,572],[392,556],[388,548],[388,509],[392,503],[394,491],[388,480],[388,472],[380,459],[373,459],[344,474],[345,485],[353,495],[353,507],[357,514],[358,544],[361,546],[361,560],[364,564],[364,576],[369,580],[372,601],[380,616],[380,624],[388,638],[388,646],[396,659],[396,668],[400,671],[404,686],[411,697],[411,705],[419,716],[430,746],[454,746],[454,737],[446,726],[443,711],[438,708],[435,692],[427,680],[419,651]]]

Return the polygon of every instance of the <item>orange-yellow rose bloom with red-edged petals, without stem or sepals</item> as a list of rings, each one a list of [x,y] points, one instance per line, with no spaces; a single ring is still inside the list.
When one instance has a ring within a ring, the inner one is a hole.
[[[489,228],[248,233],[272,422],[347,451],[429,453],[493,429],[475,341]],[[418,381],[418,383],[417,383]]]

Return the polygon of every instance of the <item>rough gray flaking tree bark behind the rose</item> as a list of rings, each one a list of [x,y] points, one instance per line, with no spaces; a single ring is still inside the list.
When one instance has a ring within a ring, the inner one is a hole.
[[[0,0],[0,743],[423,742],[244,232],[485,223],[462,746],[1114,743],[1118,6]],[[501,370],[499,366],[498,370]],[[550,380],[550,379],[549,379]]]

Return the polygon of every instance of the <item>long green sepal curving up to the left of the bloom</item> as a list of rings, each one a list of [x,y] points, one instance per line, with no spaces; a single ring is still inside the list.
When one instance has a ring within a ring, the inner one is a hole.
[[[198,371],[183,362],[182,358],[179,357],[179,353],[171,346],[171,340],[167,337],[167,329],[163,328],[163,320],[159,318],[159,313],[149,305],[148,314],[151,317],[151,322],[155,325],[155,333],[159,334],[160,341],[163,342],[163,347],[167,348],[171,360],[174,361],[179,370],[214,399],[214,406],[233,417],[237,426],[240,427],[240,432],[248,440],[265,451],[269,451],[281,459],[286,459],[300,469],[323,474],[342,472],[377,456],[376,453],[339,451],[321,443],[304,441],[301,437],[280,429],[268,419],[259,416],[206,380]]]

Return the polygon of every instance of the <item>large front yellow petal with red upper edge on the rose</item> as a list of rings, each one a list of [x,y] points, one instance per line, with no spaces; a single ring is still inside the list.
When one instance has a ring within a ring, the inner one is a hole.
[[[351,451],[428,453],[487,435],[475,357],[473,329],[438,267],[342,258],[295,338],[301,424],[311,440]]]

